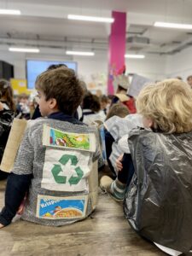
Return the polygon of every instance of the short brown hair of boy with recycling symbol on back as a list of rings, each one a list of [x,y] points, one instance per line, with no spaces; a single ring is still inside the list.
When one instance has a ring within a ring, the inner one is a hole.
[[[72,69],[59,67],[41,73],[35,87],[42,90],[46,101],[55,98],[63,113],[73,114],[83,98],[83,89]]]

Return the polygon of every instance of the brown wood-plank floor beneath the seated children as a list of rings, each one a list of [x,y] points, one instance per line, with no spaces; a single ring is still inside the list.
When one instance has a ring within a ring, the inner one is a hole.
[[[5,183],[0,182],[0,208]],[[100,192],[90,218],[63,227],[46,227],[20,219],[0,230],[0,255],[166,255],[131,230],[122,206]]]

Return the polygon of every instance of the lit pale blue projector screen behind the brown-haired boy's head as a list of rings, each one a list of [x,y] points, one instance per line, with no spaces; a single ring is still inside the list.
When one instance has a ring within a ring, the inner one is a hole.
[[[77,73],[77,62],[75,61],[32,61],[26,60],[27,88],[35,87],[35,80],[40,73],[43,73],[50,65],[65,64]]]

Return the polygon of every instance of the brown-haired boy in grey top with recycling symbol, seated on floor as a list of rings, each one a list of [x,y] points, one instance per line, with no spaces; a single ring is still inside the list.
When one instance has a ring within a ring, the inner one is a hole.
[[[73,117],[83,97],[79,79],[72,69],[61,67],[40,74],[36,89],[44,118],[31,121],[20,143],[1,227],[11,223],[26,193],[21,218],[38,224],[70,224],[96,207],[93,176],[100,153],[96,129]]]

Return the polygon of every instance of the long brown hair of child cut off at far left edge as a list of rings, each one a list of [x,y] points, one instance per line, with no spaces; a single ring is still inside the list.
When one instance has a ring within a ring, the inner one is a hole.
[[[0,97],[8,104],[10,110],[15,111],[13,89],[9,81],[4,79],[0,79]]]

